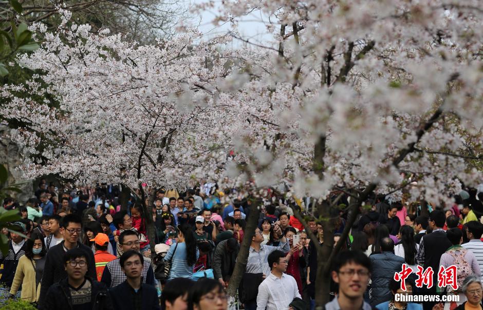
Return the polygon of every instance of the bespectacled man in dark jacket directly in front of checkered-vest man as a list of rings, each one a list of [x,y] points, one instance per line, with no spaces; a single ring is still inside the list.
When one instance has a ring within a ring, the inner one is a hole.
[[[160,309],[156,289],[141,281],[144,264],[138,251],[128,250],[122,254],[119,265],[126,280],[109,291],[116,310]]]

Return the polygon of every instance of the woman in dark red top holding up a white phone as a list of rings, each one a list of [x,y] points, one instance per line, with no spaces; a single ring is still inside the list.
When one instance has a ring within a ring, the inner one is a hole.
[[[285,238],[288,240],[290,244],[290,248],[294,249],[293,254],[290,251],[286,257],[288,261],[286,274],[292,276],[297,283],[297,287],[299,288],[299,293],[302,295],[302,277],[300,276],[300,267],[305,268],[306,260],[304,259],[303,255],[304,252],[302,250],[303,246],[300,243],[300,235],[297,235],[295,228],[287,227],[285,228]]]

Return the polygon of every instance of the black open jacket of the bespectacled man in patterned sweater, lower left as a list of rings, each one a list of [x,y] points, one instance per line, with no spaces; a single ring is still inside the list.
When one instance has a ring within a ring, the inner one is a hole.
[[[107,293],[104,283],[93,281],[86,277],[92,286],[91,304],[92,310],[114,310],[112,301]],[[69,283],[67,278],[49,287],[44,303],[39,305],[39,309],[45,310],[65,310],[72,309],[72,297],[70,295]]]

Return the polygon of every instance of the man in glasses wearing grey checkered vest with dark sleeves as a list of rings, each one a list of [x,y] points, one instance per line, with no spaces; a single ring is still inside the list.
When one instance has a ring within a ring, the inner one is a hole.
[[[119,244],[121,245],[122,252],[134,250],[140,252],[140,242],[138,234],[133,230],[125,230],[119,236]],[[143,259],[144,260],[144,259]],[[115,287],[126,280],[126,275],[122,271],[119,263],[120,258],[116,258],[113,261],[107,263],[102,273],[101,282],[104,282],[107,287]],[[151,284],[153,286],[158,285],[158,281],[154,278],[154,271],[149,262],[144,262],[141,270],[142,282]]]

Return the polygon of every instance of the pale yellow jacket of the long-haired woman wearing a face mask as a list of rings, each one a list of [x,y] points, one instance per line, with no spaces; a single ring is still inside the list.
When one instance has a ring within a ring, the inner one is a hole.
[[[10,294],[15,295],[20,285],[22,285],[20,299],[29,302],[39,301],[40,283],[35,289],[35,260],[30,260],[25,255],[18,260]]]

